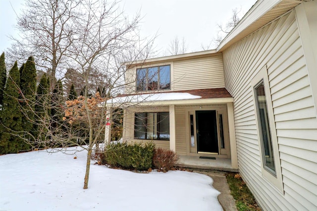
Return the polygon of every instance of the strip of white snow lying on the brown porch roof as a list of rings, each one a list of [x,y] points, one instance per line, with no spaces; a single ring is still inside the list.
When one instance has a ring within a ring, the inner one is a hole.
[[[108,100],[107,103],[139,103],[151,101],[175,101],[175,100],[192,100],[201,99],[201,96],[192,95],[189,93],[157,93],[157,94],[141,94],[125,97],[118,97]]]

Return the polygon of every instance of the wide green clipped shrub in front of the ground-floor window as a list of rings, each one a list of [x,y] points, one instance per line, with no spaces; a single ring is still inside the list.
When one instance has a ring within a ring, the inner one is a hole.
[[[124,169],[147,170],[152,167],[155,144],[111,143],[105,148],[103,163]]]

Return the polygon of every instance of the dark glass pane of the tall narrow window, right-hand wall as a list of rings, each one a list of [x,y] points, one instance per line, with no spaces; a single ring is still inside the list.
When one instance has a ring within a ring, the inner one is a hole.
[[[264,91],[264,83],[261,82],[255,87],[255,97],[257,101],[258,121],[260,128],[260,138],[262,142],[262,156],[264,168],[276,175],[269,119],[267,114],[267,104]]]

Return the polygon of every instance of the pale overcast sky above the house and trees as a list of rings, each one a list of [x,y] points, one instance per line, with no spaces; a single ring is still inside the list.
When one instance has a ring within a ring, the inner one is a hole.
[[[0,0],[0,53],[11,44],[7,35],[18,35],[13,25],[16,23],[15,12],[20,12],[23,2],[24,0]],[[153,37],[158,33],[155,46],[159,55],[162,55],[175,36],[185,38],[188,53],[202,51],[201,46],[208,45],[216,37],[217,23],[225,23],[230,19],[232,9],[241,8],[242,16],[255,2],[256,0],[122,0],[120,4],[129,16],[141,9],[141,36]]]

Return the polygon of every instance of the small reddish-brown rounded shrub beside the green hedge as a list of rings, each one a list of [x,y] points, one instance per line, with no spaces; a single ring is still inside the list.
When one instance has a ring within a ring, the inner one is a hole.
[[[175,166],[178,159],[179,157],[175,152],[158,148],[154,152],[153,166],[157,168],[158,171],[167,172]]]

